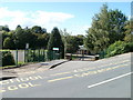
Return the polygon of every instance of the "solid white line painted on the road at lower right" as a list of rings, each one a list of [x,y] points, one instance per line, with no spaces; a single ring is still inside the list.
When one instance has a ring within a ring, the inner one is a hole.
[[[113,81],[113,80],[116,80],[116,79],[120,79],[120,78],[130,76],[130,74],[132,74],[132,73],[133,73],[133,72],[129,72],[129,73],[125,73],[125,74],[122,74],[122,76],[119,76],[119,77],[115,77],[115,78],[112,78],[112,79],[109,79],[109,80],[105,80],[105,81],[102,81],[102,82],[98,82],[98,83],[88,86],[88,88],[93,88],[93,87],[96,87],[96,86],[100,86],[100,84],[103,84],[103,83],[106,83],[106,82],[110,82],[110,81]]]

